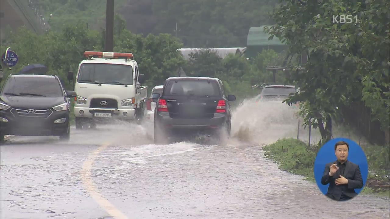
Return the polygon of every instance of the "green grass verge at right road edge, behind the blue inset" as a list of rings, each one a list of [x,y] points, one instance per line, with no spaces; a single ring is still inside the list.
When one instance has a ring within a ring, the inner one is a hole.
[[[389,147],[378,145],[369,147],[371,149],[366,151],[369,176],[361,193],[389,197]],[[319,150],[317,145],[309,147],[301,140],[283,138],[263,148],[266,157],[275,161],[280,169],[304,176],[310,182],[316,182],[314,160]]]

